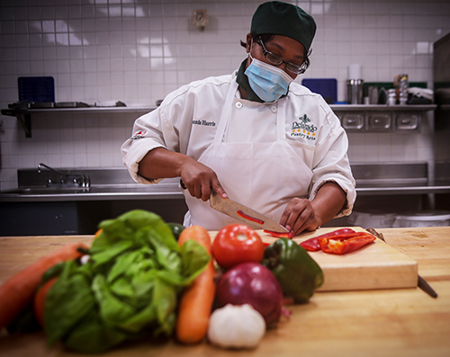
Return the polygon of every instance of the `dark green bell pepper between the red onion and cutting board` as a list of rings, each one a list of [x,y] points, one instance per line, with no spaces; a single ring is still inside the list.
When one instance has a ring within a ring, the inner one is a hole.
[[[274,273],[284,296],[296,303],[308,302],[323,284],[323,272],[318,263],[292,239],[280,238],[268,245],[263,264]]]

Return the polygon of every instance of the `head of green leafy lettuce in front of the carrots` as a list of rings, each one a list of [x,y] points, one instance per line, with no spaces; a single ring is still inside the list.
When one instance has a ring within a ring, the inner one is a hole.
[[[179,248],[154,213],[131,210],[100,223],[88,263],[64,263],[46,299],[49,344],[102,353],[125,340],[169,336],[179,293],[211,257],[188,240]]]

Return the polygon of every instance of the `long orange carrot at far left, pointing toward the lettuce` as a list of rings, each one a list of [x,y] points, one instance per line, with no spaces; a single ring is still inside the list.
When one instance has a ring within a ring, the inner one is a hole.
[[[4,281],[0,286],[0,330],[8,326],[31,303],[42,282],[42,274],[57,263],[76,259],[81,255],[77,251],[78,247],[88,249],[82,243],[61,246]]]

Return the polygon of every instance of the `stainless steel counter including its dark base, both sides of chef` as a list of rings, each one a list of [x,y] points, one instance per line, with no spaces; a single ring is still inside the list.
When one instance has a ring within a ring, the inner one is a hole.
[[[355,211],[450,210],[448,164],[433,168],[427,163],[354,164],[352,170],[358,194]],[[89,175],[91,185],[67,187],[58,184],[61,176],[55,172],[18,170],[19,187],[0,192],[0,217],[6,222],[0,225],[0,236],[93,234],[101,220],[135,209],[155,212],[166,222],[182,223],[187,211],[178,178],[140,184],[124,168],[58,171],[67,178]],[[437,193],[436,197],[432,193]],[[333,219],[328,227],[348,226],[347,219]]]

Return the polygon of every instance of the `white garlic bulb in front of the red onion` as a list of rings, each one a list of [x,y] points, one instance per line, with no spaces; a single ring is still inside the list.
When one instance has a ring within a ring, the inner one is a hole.
[[[208,338],[223,348],[253,348],[266,333],[262,315],[248,304],[228,304],[212,312]]]

